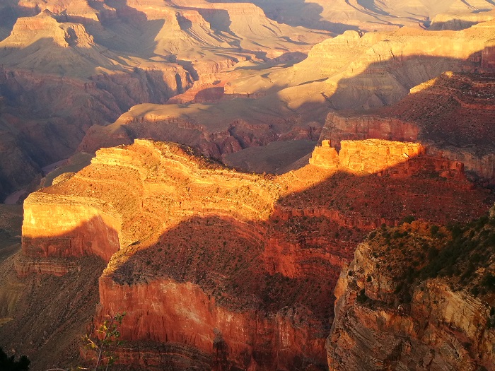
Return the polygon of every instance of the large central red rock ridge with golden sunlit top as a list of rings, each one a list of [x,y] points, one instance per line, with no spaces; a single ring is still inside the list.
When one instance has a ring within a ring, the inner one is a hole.
[[[322,144],[279,176],[174,143],[102,149],[25,201],[18,276],[107,261],[93,322],[127,313],[118,353],[133,367],[325,370],[332,292],[364,235],[408,215],[470,220],[490,200],[417,143]]]

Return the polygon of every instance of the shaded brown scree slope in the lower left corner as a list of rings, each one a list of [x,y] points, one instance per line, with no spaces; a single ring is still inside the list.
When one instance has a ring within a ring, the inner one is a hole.
[[[82,257],[65,264],[78,269],[63,277],[30,274],[27,278],[16,277],[12,259],[0,264],[1,290],[18,294],[2,295],[6,301],[1,302],[0,315],[11,319],[0,326],[0,346],[28,355],[31,370],[76,366],[80,338],[98,303],[103,261]],[[4,312],[5,305],[13,305],[12,312]]]

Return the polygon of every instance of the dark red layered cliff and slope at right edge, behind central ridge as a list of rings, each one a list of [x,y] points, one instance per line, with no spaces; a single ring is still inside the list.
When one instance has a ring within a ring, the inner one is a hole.
[[[330,112],[320,141],[337,149],[346,139],[418,141],[429,155],[461,162],[470,175],[494,184],[494,94],[491,73],[443,73],[373,114]]]

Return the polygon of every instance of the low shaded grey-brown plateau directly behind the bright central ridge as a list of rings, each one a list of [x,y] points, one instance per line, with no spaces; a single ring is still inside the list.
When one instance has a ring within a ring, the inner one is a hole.
[[[182,98],[187,99],[187,93],[174,99]],[[153,138],[182,143],[221,160],[223,154],[266,146],[272,141],[318,138],[318,122],[303,123],[297,112],[281,110],[276,114],[267,112],[263,107],[252,107],[249,100],[221,100],[216,104],[196,103],[187,107],[138,105],[114,124],[92,126],[78,150],[93,152],[101,147],[129,144],[138,138]]]

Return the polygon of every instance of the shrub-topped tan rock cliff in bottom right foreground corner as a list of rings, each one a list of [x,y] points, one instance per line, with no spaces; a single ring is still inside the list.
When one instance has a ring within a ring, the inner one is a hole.
[[[372,232],[335,289],[330,370],[494,370],[494,225]]]

